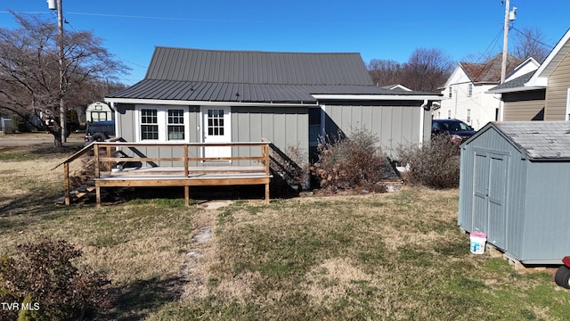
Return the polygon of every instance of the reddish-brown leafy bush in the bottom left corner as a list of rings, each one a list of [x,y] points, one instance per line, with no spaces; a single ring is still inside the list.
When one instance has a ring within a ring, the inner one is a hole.
[[[66,241],[42,239],[17,250],[19,257],[0,260],[0,301],[20,309],[4,309],[0,319],[77,320],[102,304],[109,281],[88,267],[77,268],[73,262],[81,251]]]

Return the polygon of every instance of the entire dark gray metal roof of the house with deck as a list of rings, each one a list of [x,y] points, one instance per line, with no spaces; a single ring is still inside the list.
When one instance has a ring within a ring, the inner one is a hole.
[[[426,94],[374,86],[359,53],[157,47],[145,78],[107,98],[314,103],[313,95]]]

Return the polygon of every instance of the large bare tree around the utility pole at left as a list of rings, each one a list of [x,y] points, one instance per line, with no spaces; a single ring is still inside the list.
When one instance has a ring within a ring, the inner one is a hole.
[[[19,28],[0,29],[0,109],[12,111],[29,125],[30,114],[49,115],[47,128],[61,147],[59,102],[66,108],[93,102],[102,79],[126,72],[127,67],[102,46],[92,31],[72,31],[63,39],[63,65],[59,64],[57,25],[35,15],[12,12]],[[59,70],[63,70],[60,86]],[[106,93],[99,92],[99,95]]]

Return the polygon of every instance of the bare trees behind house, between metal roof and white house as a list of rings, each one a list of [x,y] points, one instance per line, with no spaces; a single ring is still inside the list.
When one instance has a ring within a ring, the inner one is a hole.
[[[439,49],[418,48],[403,64],[402,85],[413,90],[437,92],[452,73],[455,63]]]

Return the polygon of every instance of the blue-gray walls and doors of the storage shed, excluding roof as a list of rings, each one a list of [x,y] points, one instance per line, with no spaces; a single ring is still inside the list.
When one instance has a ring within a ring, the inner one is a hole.
[[[499,174],[485,177],[489,168],[477,166],[482,155],[504,155],[505,167]],[[477,157],[479,155],[479,157]],[[507,255],[526,264],[559,264],[570,255],[570,162],[533,161],[525,152],[487,126],[461,145],[460,202],[458,225],[468,232],[480,230],[487,241]],[[479,215],[476,202],[477,179],[488,179],[504,188],[504,202],[498,211]]]

